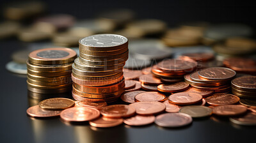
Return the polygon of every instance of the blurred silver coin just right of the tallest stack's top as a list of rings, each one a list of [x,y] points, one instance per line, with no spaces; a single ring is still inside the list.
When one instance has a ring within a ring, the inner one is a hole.
[[[172,49],[155,39],[134,40],[129,42],[129,50],[137,59],[164,59],[172,56]]]

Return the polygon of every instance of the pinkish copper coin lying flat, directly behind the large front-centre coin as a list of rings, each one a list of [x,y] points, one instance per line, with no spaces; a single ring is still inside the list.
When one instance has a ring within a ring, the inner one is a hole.
[[[150,91],[145,93],[139,93],[135,97],[136,102],[162,102],[165,99],[165,95]]]

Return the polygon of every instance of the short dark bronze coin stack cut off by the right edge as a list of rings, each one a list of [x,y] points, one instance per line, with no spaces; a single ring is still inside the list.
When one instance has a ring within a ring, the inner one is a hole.
[[[256,99],[256,76],[237,77],[232,80],[232,93],[240,98]]]

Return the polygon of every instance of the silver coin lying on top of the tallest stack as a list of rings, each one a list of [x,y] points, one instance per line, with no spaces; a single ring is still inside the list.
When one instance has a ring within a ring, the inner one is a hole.
[[[79,43],[88,47],[115,47],[127,41],[127,38],[118,34],[95,34],[82,38]]]

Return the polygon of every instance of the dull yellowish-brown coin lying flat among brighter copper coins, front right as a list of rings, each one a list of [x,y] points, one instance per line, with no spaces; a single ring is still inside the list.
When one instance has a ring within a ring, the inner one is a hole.
[[[190,105],[182,107],[179,112],[188,114],[191,117],[206,117],[211,116],[212,109],[204,106]]]

